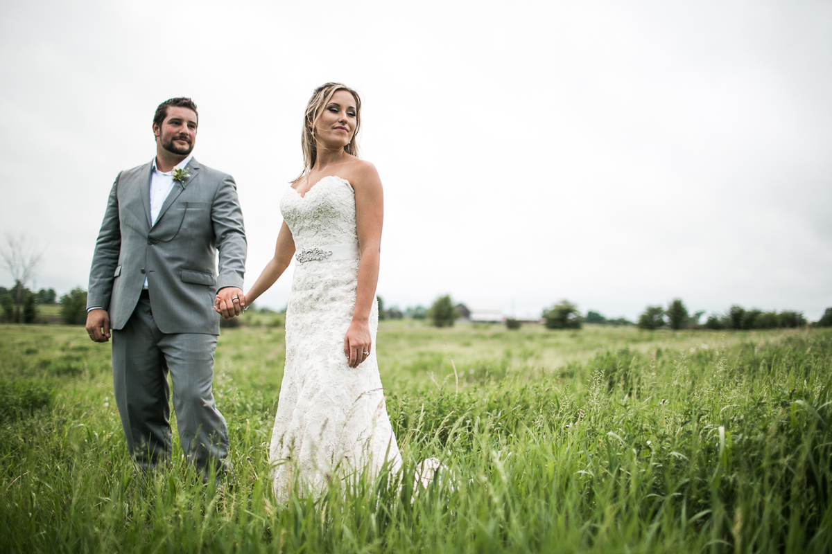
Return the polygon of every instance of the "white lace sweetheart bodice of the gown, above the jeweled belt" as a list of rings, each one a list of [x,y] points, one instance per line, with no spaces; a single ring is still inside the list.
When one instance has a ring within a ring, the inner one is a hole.
[[[355,230],[355,193],[347,179],[324,177],[303,197],[290,189],[280,201],[280,212],[298,251],[359,241]]]

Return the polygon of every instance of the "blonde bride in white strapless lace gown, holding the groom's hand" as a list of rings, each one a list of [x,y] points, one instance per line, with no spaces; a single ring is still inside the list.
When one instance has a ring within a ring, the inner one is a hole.
[[[286,361],[270,446],[275,493],[319,493],[401,455],[384,405],[374,341],[375,287],[384,215],[381,179],[358,158],[358,93],[339,83],[315,89],[306,107],[304,170],[280,201],[275,257],[240,297],[250,305],[297,262],[286,307]],[[219,297],[216,310],[225,308]],[[297,473],[295,473],[297,472]]]

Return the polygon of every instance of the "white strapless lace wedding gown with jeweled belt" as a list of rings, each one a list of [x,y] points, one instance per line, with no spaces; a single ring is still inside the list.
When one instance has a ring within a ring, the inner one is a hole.
[[[369,465],[378,473],[385,459],[398,470],[401,455],[375,355],[376,302],[369,316],[369,357],[353,369],[344,355],[359,272],[353,188],[345,179],[324,177],[304,197],[287,190],[280,211],[297,252],[270,446],[275,493],[285,499],[295,472],[305,493],[314,494],[336,472],[344,478]],[[299,256],[306,261],[299,262]]]

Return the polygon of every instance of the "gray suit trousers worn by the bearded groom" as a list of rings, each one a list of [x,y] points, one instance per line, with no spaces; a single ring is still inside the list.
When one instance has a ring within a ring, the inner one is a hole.
[[[116,405],[137,468],[171,458],[170,371],[182,450],[204,477],[211,464],[225,471],[228,429],[211,390],[216,341],[215,335],[159,331],[146,292],[124,328],[112,331]]]

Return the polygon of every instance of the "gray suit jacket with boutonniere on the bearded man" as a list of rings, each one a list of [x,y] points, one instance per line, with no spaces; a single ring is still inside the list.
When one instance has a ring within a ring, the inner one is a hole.
[[[112,185],[92,257],[87,308],[105,307],[111,328],[123,328],[147,277],[160,331],[219,335],[214,296],[223,287],[241,289],[245,272],[236,184],[192,158],[191,176],[173,184],[151,226],[152,166],[151,160],[122,171]]]

